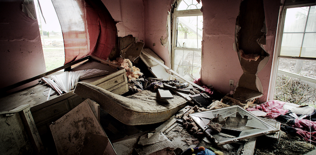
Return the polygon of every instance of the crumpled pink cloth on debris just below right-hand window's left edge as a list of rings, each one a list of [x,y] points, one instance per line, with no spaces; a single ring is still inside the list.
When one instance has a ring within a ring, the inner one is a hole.
[[[278,100],[270,100],[263,104],[257,105],[256,108],[247,108],[248,111],[253,110],[261,110],[267,112],[267,117],[269,118],[276,118],[280,115],[284,115],[288,110],[283,109],[283,105],[285,102],[278,101]]]

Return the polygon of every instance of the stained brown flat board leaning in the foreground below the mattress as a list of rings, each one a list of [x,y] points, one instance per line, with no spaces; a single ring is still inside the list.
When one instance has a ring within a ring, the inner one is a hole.
[[[87,100],[50,128],[58,155],[116,155]]]

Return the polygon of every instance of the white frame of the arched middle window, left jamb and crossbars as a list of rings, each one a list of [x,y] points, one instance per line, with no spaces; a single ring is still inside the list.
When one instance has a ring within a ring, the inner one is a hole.
[[[181,1],[179,1],[181,2]],[[175,70],[174,60],[175,60],[175,50],[193,50],[193,51],[201,51],[201,48],[187,48],[187,47],[176,47],[177,44],[177,17],[181,16],[203,16],[201,9],[194,9],[194,10],[179,10],[172,13],[172,47],[171,47],[171,68]]]

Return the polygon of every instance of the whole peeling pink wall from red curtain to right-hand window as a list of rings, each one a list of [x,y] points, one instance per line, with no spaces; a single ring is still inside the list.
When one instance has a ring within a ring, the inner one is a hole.
[[[119,36],[132,34],[145,42],[170,66],[168,48],[162,46],[160,38],[167,37],[167,16],[173,0],[102,0],[117,24]],[[212,84],[216,90],[229,93],[229,79],[234,86],[243,74],[237,52],[233,50],[235,42],[236,18],[239,15],[241,0],[202,0],[203,2],[203,59],[201,79],[204,84]],[[279,0],[263,0],[267,34],[265,50],[270,54],[267,65],[258,76],[263,85],[263,97],[266,100],[270,71],[279,15]],[[169,38],[170,41],[171,38]],[[155,46],[153,45],[155,44]]]

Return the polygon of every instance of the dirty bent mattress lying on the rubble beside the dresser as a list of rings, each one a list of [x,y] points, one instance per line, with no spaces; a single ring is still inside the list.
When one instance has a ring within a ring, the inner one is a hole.
[[[102,109],[127,125],[166,121],[187,103],[177,95],[172,99],[159,99],[157,93],[148,90],[124,97],[85,82],[78,82],[74,93],[94,100]]]

